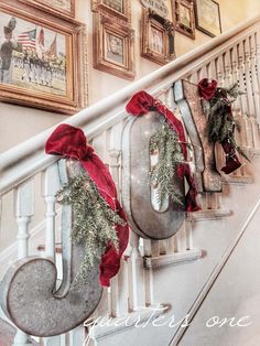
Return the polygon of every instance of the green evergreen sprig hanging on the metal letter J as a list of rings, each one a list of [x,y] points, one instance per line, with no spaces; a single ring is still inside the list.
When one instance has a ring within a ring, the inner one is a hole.
[[[86,281],[90,267],[101,260],[109,242],[118,250],[116,225],[126,225],[126,221],[110,208],[87,173],[69,179],[56,197],[59,204],[72,206],[72,242],[86,248],[74,283]]]

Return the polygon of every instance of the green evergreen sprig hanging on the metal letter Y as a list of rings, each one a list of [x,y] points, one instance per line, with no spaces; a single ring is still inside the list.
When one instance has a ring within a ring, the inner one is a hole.
[[[241,156],[249,160],[247,154],[237,144],[235,130],[241,131],[240,123],[236,121],[230,113],[231,104],[242,93],[239,91],[238,85],[235,84],[228,89],[217,88],[214,97],[209,101],[208,120],[207,120],[207,137],[209,142],[228,141]]]

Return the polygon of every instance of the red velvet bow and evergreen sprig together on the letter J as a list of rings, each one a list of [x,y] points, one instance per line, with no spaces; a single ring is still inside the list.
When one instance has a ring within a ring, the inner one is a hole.
[[[54,130],[46,141],[45,151],[76,159],[86,171],[62,186],[57,201],[72,205],[72,241],[85,245],[87,250],[75,280],[87,280],[89,267],[99,259],[100,284],[109,286],[110,279],[120,269],[120,259],[129,239],[127,218],[117,198],[112,177],[88,145],[84,132],[71,125],[59,125]]]

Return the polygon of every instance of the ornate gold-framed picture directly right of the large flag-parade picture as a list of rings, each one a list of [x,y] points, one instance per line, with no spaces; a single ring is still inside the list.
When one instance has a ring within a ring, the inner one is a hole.
[[[94,67],[118,77],[134,78],[134,32],[101,13],[94,13]]]

